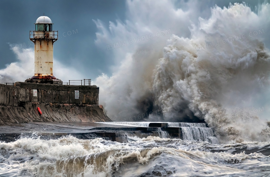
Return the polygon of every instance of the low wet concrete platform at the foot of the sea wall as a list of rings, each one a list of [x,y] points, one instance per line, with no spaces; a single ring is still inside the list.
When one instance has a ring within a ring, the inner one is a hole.
[[[79,139],[103,138],[125,143],[128,142],[127,135],[147,138],[159,136],[160,131],[167,131],[169,138],[183,139],[181,127],[134,127],[106,122],[29,122],[0,126],[0,141],[9,142],[33,136],[54,139],[72,135]]]

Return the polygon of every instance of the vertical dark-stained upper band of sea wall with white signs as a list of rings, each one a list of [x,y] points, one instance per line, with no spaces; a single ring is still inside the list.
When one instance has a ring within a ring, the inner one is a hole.
[[[33,96],[33,89],[37,96]],[[75,99],[79,90],[79,99]],[[0,84],[0,105],[19,106],[22,102],[99,104],[99,87],[16,82],[15,86]]]

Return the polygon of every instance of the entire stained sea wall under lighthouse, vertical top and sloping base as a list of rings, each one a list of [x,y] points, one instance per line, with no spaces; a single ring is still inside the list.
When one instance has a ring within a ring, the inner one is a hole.
[[[75,99],[75,90],[79,91]],[[34,93],[36,91],[36,93]],[[98,104],[99,87],[16,82],[0,84],[0,125],[111,121]],[[39,115],[37,107],[42,111]]]

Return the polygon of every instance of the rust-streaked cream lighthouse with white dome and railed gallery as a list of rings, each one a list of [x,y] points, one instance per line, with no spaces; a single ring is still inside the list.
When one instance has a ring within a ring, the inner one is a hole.
[[[58,31],[53,30],[53,23],[47,16],[40,16],[34,24],[30,40],[35,44],[35,74],[25,82],[63,84],[53,76],[53,44],[58,40]]]

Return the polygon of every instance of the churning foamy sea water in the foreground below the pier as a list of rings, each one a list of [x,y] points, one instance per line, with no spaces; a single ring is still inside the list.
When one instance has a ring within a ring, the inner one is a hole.
[[[270,176],[270,142],[221,144],[212,128],[178,125],[186,125],[183,139],[160,129],[157,137],[127,134],[127,143],[73,136],[0,142],[0,176]]]

